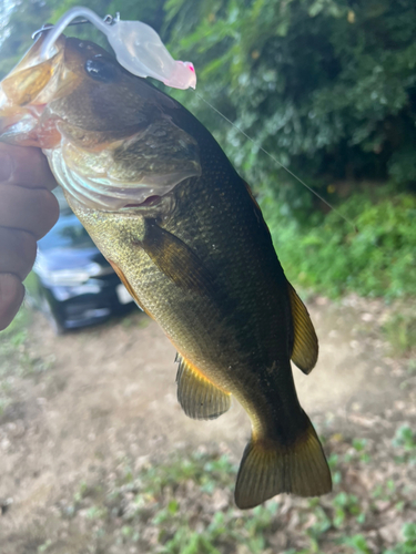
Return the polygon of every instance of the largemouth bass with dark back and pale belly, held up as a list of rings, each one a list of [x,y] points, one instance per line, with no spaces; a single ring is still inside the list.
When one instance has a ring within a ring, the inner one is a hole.
[[[0,84],[0,140],[42,148],[68,203],[129,293],[177,351],[186,416],[251,419],[240,509],[332,490],[291,360],[318,341],[248,185],[184,106],[97,44],[47,31]]]

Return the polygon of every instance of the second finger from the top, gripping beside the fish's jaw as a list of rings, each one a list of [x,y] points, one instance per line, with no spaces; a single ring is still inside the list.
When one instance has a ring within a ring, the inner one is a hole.
[[[22,229],[42,238],[58,220],[59,205],[45,188],[26,188],[0,183],[0,226]]]

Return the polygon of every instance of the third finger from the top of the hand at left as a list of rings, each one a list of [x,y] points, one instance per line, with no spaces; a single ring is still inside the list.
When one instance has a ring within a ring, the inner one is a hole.
[[[37,257],[37,242],[31,233],[0,227],[0,274],[14,274],[24,280]]]

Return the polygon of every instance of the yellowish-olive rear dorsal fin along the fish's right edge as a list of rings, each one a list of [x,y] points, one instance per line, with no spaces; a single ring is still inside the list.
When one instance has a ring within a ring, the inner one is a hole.
[[[317,360],[317,337],[305,305],[290,283],[287,286],[294,329],[292,361],[307,375],[313,370]]]

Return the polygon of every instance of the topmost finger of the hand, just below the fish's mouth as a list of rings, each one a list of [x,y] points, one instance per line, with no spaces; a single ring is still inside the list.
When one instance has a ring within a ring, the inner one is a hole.
[[[57,181],[40,148],[0,143],[0,182],[52,191]]]

